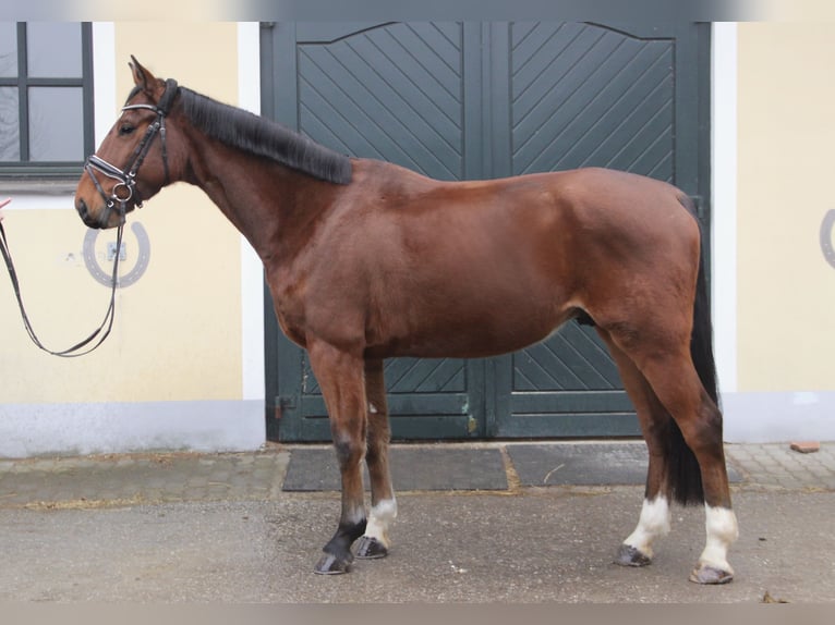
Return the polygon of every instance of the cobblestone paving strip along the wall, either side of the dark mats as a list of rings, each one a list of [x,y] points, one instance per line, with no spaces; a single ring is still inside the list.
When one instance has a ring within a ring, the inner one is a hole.
[[[835,490],[835,442],[801,454],[788,443],[727,444],[735,488]],[[0,459],[0,507],[95,507],[281,497],[290,451]]]

